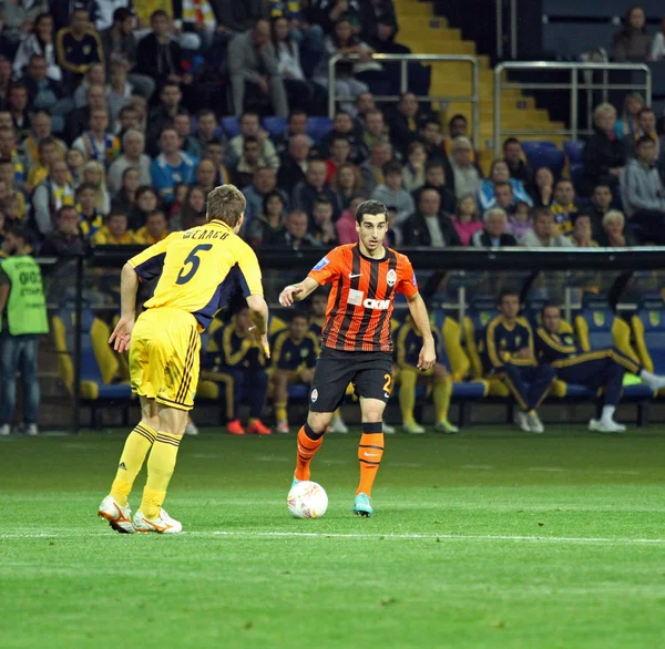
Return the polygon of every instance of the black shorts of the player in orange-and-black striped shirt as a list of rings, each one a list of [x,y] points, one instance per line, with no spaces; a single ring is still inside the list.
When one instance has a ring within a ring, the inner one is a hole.
[[[349,383],[356,394],[388,403],[392,390],[392,354],[382,351],[324,349],[309,392],[311,412],[335,412]]]

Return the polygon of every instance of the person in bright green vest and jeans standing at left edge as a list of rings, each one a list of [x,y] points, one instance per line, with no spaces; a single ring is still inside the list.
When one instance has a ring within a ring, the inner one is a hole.
[[[0,264],[0,435],[10,433],[17,402],[17,371],[23,383],[21,432],[37,435],[39,339],[49,332],[41,270],[28,254],[30,234],[20,226],[4,237]]]

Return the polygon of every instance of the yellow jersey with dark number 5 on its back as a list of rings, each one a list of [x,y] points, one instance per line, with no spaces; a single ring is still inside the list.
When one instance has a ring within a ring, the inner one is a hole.
[[[263,296],[256,254],[221,220],[173,233],[129,264],[141,280],[160,278],[146,309],[182,309],[202,331],[235,290]]]

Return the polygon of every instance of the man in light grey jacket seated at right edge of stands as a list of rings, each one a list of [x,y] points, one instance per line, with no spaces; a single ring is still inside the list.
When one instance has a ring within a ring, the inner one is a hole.
[[[630,159],[625,172],[626,213],[642,241],[665,245],[665,190],[656,168],[656,143],[648,135],[637,141],[636,159]]]

